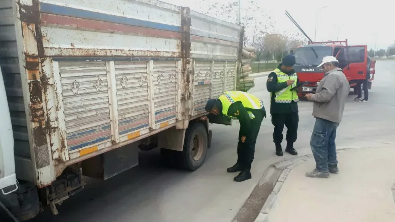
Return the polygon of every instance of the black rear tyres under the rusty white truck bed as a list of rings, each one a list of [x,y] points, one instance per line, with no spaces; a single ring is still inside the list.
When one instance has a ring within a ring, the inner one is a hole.
[[[203,165],[207,148],[207,129],[202,123],[197,122],[186,130],[182,152],[162,148],[161,157],[167,166],[195,171]]]

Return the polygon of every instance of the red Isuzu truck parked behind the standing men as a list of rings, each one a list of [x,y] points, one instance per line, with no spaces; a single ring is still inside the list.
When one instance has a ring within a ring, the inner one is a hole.
[[[356,91],[357,81],[366,79],[368,71],[367,45],[348,45],[345,41],[309,42],[308,45],[299,46],[294,50],[296,64],[294,69],[300,82],[306,82],[299,88],[298,96],[304,97],[307,93],[315,93],[317,86],[324,76],[321,68],[317,66],[325,56],[335,56],[339,66],[343,69],[350,87]],[[375,60],[370,63],[370,78],[368,89],[372,87],[375,74]]]

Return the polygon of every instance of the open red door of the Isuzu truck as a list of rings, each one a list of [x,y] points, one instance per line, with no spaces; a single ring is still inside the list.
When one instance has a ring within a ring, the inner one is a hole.
[[[340,68],[350,81],[366,78],[367,71],[367,46],[346,46],[338,54]],[[352,82],[350,82],[352,84]]]

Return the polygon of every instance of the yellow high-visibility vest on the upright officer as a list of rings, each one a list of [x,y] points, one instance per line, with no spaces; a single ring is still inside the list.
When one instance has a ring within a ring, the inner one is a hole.
[[[274,92],[275,94],[275,102],[276,103],[290,103],[292,101],[298,102],[299,97],[296,92],[292,92],[291,89],[293,87],[296,87],[296,82],[298,80],[298,75],[296,73],[292,75],[288,75],[284,72],[282,72],[280,69],[275,69],[273,71],[277,75],[277,81],[278,83],[286,82],[288,80],[295,80],[295,82],[292,85],[289,85],[280,91]],[[273,93],[270,93],[270,97],[272,97]]]

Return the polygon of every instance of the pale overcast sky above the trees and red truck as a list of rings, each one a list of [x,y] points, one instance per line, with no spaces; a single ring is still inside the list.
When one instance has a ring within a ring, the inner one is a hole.
[[[178,6],[187,6],[202,12],[200,0],[162,0]],[[211,0],[220,4],[230,0]],[[238,0],[235,0],[238,1]],[[284,14],[287,10],[307,35],[316,41],[348,39],[349,44],[367,44],[368,48],[385,48],[395,43],[395,13],[389,0],[257,0],[261,8],[270,11],[276,29],[296,32],[295,25]],[[247,0],[241,0],[241,5]],[[354,3],[353,3],[354,2]],[[326,6],[326,7],[325,7]],[[324,8],[325,7],[325,8]]]

